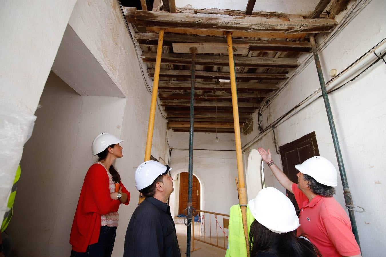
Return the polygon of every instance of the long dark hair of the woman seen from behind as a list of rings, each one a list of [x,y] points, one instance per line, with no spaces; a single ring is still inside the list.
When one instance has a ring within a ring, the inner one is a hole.
[[[296,231],[296,230],[295,230]],[[278,257],[321,257],[319,250],[311,242],[296,237],[296,232],[275,233],[254,220],[249,230],[251,256],[261,252]]]

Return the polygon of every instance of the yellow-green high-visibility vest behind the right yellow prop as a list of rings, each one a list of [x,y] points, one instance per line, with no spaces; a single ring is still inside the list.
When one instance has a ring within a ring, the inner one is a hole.
[[[249,206],[247,206],[247,225],[248,235],[249,227],[255,218],[252,216]],[[240,206],[233,205],[229,211],[229,238],[228,249],[225,257],[246,257],[247,245],[245,244],[244,227],[242,225],[242,216]]]

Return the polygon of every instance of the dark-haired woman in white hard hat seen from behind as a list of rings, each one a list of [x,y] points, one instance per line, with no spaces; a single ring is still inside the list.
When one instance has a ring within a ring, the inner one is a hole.
[[[251,257],[321,256],[306,237],[296,237],[300,224],[295,207],[276,188],[263,188],[249,201],[249,209],[255,218],[249,231]]]

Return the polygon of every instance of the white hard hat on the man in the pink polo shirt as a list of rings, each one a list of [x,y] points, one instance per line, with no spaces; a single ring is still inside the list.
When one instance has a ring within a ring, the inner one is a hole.
[[[322,156],[313,156],[302,164],[295,165],[303,174],[312,176],[320,184],[337,186],[337,170],[332,163]]]

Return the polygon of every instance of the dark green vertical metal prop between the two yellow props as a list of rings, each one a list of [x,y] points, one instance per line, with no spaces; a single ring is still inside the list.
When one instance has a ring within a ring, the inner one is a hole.
[[[189,129],[189,174],[188,174],[188,230],[186,233],[186,257],[190,257],[190,229],[193,223],[193,200],[192,200],[192,188],[193,188],[193,132],[194,132],[194,85],[195,85],[195,72],[196,72],[196,52],[197,49],[192,47],[190,49],[192,54],[192,71],[191,71],[191,87],[190,87],[190,129]],[[194,226],[194,223],[193,223]],[[194,235],[193,235],[194,237]]]

